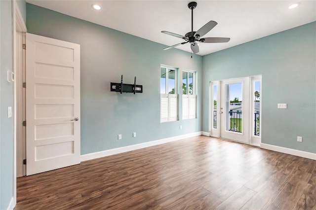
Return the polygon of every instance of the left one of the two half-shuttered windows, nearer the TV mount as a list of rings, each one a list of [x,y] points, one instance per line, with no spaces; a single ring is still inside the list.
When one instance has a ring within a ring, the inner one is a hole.
[[[178,120],[177,70],[160,67],[160,122]]]

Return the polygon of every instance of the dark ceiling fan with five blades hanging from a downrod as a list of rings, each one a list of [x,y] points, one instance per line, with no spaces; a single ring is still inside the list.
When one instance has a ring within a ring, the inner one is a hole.
[[[192,1],[188,4],[189,9],[191,9],[191,13],[192,13],[192,30],[191,32],[188,32],[186,35],[177,35],[171,32],[166,32],[166,31],[162,31],[161,33],[163,34],[167,34],[167,35],[172,35],[178,38],[182,38],[185,41],[179,44],[175,44],[172,45],[170,47],[166,47],[163,50],[167,50],[182,44],[186,44],[188,42],[190,42],[191,44],[191,50],[194,54],[199,52],[199,48],[198,48],[198,44],[197,41],[199,42],[203,42],[203,43],[222,43],[222,42],[228,42],[231,38],[223,38],[223,37],[206,37],[206,38],[201,38],[201,36],[206,35],[209,31],[211,31],[216,25],[217,23],[215,21],[209,21],[208,23],[206,23],[202,28],[200,28],[199,30],[197,30],[197,32],[193,31],[193,10],[197,7],[197,2]]]

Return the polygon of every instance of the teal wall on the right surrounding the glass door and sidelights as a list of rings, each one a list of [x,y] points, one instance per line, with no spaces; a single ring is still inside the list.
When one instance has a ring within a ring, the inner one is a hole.
[[[204,56],[202,130],[209,131],[210,81],[259,74],[262,143],[316,153],[316,22]]]

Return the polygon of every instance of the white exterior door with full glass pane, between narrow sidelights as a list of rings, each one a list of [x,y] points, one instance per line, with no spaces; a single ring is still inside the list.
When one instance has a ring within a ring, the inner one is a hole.
[[[249,143],[249,78],[220,82],[220,137]]]

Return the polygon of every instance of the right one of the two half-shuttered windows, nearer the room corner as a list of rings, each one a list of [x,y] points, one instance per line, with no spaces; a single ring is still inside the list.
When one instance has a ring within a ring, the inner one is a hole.
[[[182,119],[196,118],[195,72],[182,72]]]

